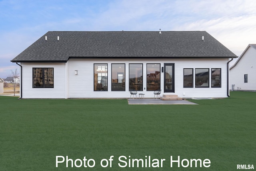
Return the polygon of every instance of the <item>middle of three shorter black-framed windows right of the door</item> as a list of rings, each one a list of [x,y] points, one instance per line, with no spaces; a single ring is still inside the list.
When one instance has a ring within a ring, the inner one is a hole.
[[[209,68],[196,68],[196,87],[209,87]]]

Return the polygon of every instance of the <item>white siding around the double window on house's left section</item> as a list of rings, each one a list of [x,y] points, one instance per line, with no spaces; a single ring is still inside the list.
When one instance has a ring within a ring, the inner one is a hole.
[[[22,63],[22,98],[65,98],[65,63]],[[54,88],[33,88],[32,68],[54,68]]]

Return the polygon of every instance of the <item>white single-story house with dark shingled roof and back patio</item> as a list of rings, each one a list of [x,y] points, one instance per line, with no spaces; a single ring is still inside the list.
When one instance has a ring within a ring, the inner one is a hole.
[[[229,96],[230,58],[205,31],[50,31],[11,62],[22,98],[219,98]]]

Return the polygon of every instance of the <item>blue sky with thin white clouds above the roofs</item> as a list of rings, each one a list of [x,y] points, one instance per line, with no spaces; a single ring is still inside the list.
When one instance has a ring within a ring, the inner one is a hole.
[[[0,78],[19,69],[10,61],[48,31],[159,29],[206,31],[240,56],[256,44],[256,1],[0,0]]]

